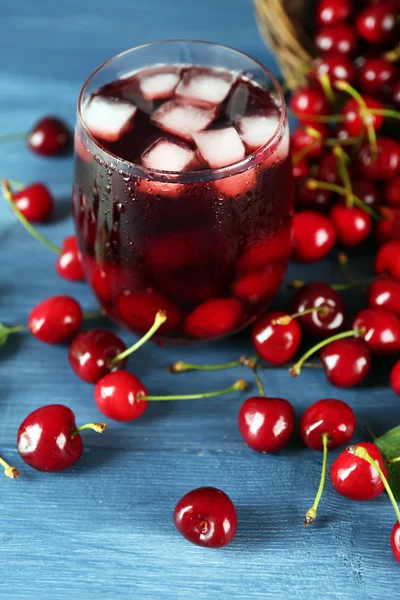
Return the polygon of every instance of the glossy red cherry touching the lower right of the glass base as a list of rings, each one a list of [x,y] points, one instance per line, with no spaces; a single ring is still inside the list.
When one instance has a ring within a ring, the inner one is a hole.
[[[292,319],[287,325],[273,323],[286,316],[284,312],[269,312],[253,325],[253,346],[257,354],[272,365],[284,365],[292,360],[300,346],[301,329],[297,319]]]

